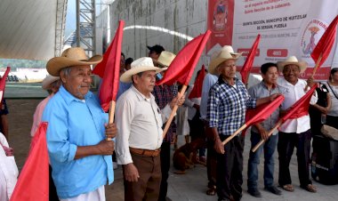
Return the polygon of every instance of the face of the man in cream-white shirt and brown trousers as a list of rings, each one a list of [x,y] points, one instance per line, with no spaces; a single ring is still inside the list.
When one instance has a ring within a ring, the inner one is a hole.
[[[150,92],[154,91],[155,81],[155,70],[144,71],[141,76],[133,76],[135,87],[145,96],[148,96]]]

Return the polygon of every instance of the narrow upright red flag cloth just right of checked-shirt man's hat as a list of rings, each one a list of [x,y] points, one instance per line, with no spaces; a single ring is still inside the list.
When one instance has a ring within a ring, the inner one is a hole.
[[[260,43],[261,35],[259,34],[256,37],[256,40],[254,41],[253,46],[251,47],[250,52],[247,54],[245,63],[243,64],[243,68],[240,70],[240,75],[242,76],[242,82],[244,84],[247,84],[248,81],[248,75],[251,71],[251,68],[253,68],[254,63],[254,56],[256,55],[258,44]]]

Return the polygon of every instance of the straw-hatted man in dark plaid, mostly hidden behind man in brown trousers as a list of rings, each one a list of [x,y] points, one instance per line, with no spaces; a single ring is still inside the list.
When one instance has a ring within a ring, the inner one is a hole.
[[[151,55],[150,55],[151,56]],[[172,63],[173,59],[175,59],[176,55],[172,52],[162,51],[158,57],[153,57],[154,65],[158,68],[162,68],[163,71],[157,73],[157,80],[161,79],[164,75],[165,69],[167,69],[170,64]],[[170,103],[173,98],[177,95],[177,84],[167,85],[161,84],[156,85],[154,87],[154,91],[151,92],[157,103],[159,109],[164,109],[165,106]],[[162,128],[165,127],[165,124]],[[176,129],[177,126],[173,121],[169,126],[168,132],[165,135],[165,139],[163,139],[161,145],[161,173],[162,173],[162,180],[161,180],[161,187],[159,190],[159,201],[165,201],[167,189],[168,189],[168,177],[169,177],[169,169],[170,169],[170,145],[173,139],[176,137]]]

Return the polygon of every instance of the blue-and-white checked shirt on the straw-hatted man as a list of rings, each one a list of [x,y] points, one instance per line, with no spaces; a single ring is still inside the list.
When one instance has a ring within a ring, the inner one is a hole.
[[[222,135],[235,133],[245,124],[246,108],[255,108],[256,100],[246,91],[245,84],[235,78],[236,88],[221,76],[209,91],[206,118],[210,127],[217,127]]]

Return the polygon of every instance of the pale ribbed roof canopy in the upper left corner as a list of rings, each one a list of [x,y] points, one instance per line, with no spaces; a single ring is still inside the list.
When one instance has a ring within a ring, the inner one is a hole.
[[[67,4],[67,0],[61,2]],[[55,50],[57,3],[57,0],[1,0],[0,58],[51,59]]]

